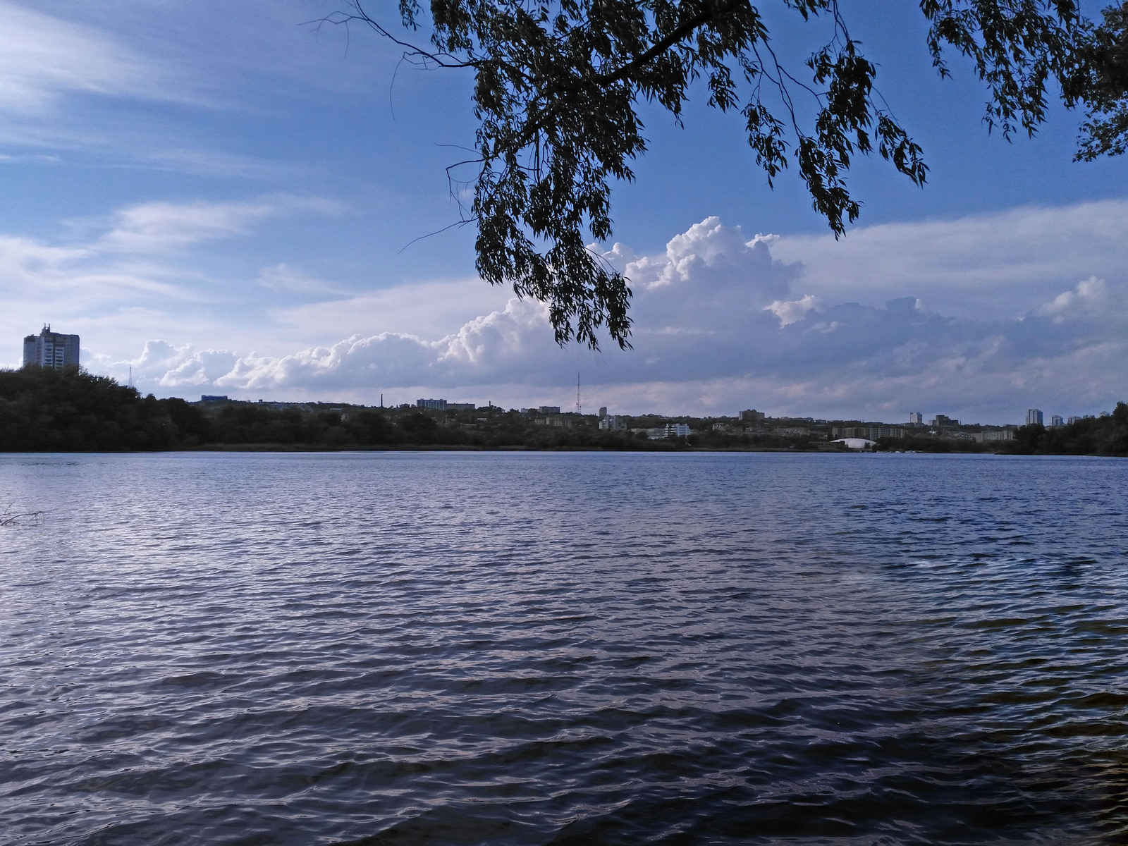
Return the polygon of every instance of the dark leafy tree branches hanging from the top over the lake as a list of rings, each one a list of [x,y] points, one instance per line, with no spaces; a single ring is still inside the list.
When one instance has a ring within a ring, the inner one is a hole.
[[[638,103],[680,121],[702,80],[711,106],[740,114],[768,183],[794,165],[836,236],[861,211],[846,184],[855,156],[875,150],[925,182],[922,150],[878,92],[876,65],[837,0],[782,2],[803,21],[823,21],[802,73],[776,55],[748,0],[431,0],[429,16],[417,0],[399,0],[405,27],[429,26],[425,49],[395,37],[360,0],[325,23],[362,21],[403,45],[408,61],[473,70],[476,156],[460,166],[476,170],[464,220],[478,228],[478,273],[547,302],[559,343],[598,346],[606,327],[628,346],[628,280],[585,245],[610,238],[610,183],[633,179],[632,162],[646,150]],[[1033,133],[1051,85],[1070,105],[1087,96],[1093,28],[1073,0],[919,7],[937,71],[949,73],[951,49],[986,82],[989,129]],[[1107,30],[1122,35],[1116,20]],[[1101,72],[1119,73],[1119,61]],[[1118,131],[1122,138],[1122,126],[1108,130]]]

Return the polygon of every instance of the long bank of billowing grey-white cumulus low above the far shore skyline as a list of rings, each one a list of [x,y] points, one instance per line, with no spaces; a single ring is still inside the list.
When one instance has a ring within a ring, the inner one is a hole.
[[[1017,317],[969,319],[929,310],[915,296],[869,305],[808,293],[803,263],[776,258],[776,243],[710,218],[664,253],[607,250],[636,291],[628,352],[562,351],[546,308],[510,299],[439,338],[355,334],[288,355],[247,354],[209,384],[236,394],[358,398],[429,386],[521,404],[558,397],[579,367],[591,402],[620,409],[751,405],[887,420],[908,409],[1006,420],[1036,402],[1087,411],[1128,395],[1114,363],[1128,354],[1122,280],[1087,277]],[[204,385],[197,360],[176,361],[159,378]]]

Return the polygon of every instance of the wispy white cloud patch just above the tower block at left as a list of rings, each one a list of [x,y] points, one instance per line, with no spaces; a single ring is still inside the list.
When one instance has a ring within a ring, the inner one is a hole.
[[[215,241],[250,238],[267,221],[340,210],[331,200],[291,195],[151,202],[100,219],[68,221],[70,237],[54,243],[0,235],[0,297],[6,303],[0,333],[9,338],[10,351],[0,361],[18,363],[18,338],[45,321],[65,324],[83,335],[85,344],[98,344],[99,337],[139,331],[213,338],[230,332],[228,321],[237,314],[244,320],[241,338],[270,340],[275,331],[258,329],[268,323],[265,312],[275,305],[275,294],[253,276],[215,264]],[[219,247],[219,253],[226,250]],[[297,273],[292,270],[291,276]],[[149,328],[141,331],[140,324]]]

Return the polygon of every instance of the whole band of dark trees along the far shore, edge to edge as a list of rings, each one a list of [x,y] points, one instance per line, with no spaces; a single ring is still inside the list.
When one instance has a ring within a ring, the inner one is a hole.
[[[668,418],[631,417],[660,426]],[[0,370],[0,451],[85,452],[177,449],[834,449],[829,429],[741,429],[689,422],[688,438],[651,440],[645,431],[602,431],[594,415],[545,418],[500,407],[459,413],[408,406],[327,403],[188,403],[142,396],[82,370]],[[1128,456],[1128,405],[1066,426],[1022,426],[1015,440],[973,443],[920,435],[881,439],[876,449],[918,452]]]

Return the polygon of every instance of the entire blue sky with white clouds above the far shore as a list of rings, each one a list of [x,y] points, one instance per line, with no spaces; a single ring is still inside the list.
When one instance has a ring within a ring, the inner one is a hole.
[[[635,349],[552,342],[544,308],[474,275],[444,167],[472,79],[317,27],[332,1],[0,0],[0,363],[46,321],[94,372],[158,396],[571,405],[1020,422],[1128,398],[1128,165],[1074,164],[1055,108],[1006,143],[907,5],[845,5],[925,148],[880,160],[835,241],[797,178],[766,187],[739,117],[696,91],[602,245],[635,290]],[[765,6],[794,65],[819,33]],[[384,7],[372,6],[384,12]]]

